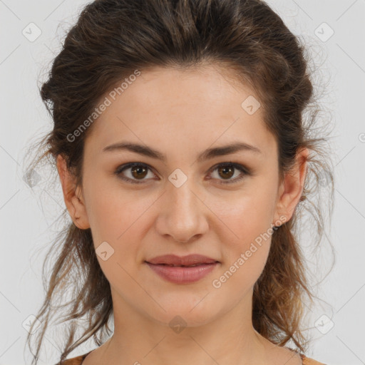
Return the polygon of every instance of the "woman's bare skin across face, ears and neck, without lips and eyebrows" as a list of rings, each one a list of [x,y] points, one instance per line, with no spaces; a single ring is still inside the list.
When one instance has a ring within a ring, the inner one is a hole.
[[[96,249],[108,242],[114,250],[106,261],[97,257],[110,282],[115,331],[83,365],[302,364],[298,354],[272,344],[252,326],[252,288],[267,261],[271,235],[219,288],[212,285],[259,235],[292,217],[303,190],[308,150],[298,154],[295,173],[280,184],[276,140],[264,126],[262,108],[250,115],[241,107],[248,96],[255,94],[217,66],[145,71],[94,122],[86,138],[82,187],[75,189],[58,157],[73,222],[91,227]],[[121,141],[148,145],[166,160],[103,151]],[[197,160],[207,148],[234,142],[260,152]],[[242,173],[235,169],[227,178],[217,165],[230,162],[252,175],[237,181]],[[148,169],[144,175],[132,168],[116,175],[126,163]],[[187,177],[180,187],[168,180],[175,169]],[[145,264],[170,253],[198,253],[220,264],[197,282],[174,284]],[[186,326],[179,333],[169,325],[176,316]]]

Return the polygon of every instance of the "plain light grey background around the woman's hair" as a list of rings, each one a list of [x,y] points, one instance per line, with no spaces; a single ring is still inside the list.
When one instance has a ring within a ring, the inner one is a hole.
[[[309,44],[326,83],[322,102],[334,124],[335,207],[326,233],[336,264],[319,289],[327,304],[318,302],[310,313],[314,341],[307,356],[331,365],[365,364],[365,1],[267,2]],[[0,365],[30,363],[24,351],[26,322],[43,301],[41,263],[61,227],[64,203],[61,188],[43,187],[49,180],[46,170],[37,171],[40,182],[32,190],[22,161],[29,143],[51,128],[37,84],[83,4],[0,0]],[[33,39],[37,31],[40,36]],[[327,243],[320,265],[324,273],[332,259]],[[314,323],[322,323],[321,331]],[[44,364],[57,360],[53,339],[46,337]],[[94,347],[90,341],[73,356]]]

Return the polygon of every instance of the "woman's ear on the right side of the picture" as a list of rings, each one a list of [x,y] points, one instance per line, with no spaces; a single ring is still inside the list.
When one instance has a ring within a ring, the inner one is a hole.
[[[276,222],[282,216],[286,217],[285,222],[287,222],[294,214],[295,207],[297,207],[300,197],[302,197],[304,180],[307,175],[308,155],[308,148],[300,150],[297,153],[296,163],[292,171],[284,176],[284,180],[279,187],[275,211]]]

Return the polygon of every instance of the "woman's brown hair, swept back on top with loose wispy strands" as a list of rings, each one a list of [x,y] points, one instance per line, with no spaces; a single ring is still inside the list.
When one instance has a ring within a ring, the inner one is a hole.
[[[324,193],[322,187],[329,187],[326,204],[331,215],[334,177],[326,156],[328,146],[322,148],[327,138],[323,134],[314,138],[320,130],[314,127],[319,108],[305,48],[264,1],[97,0],[88,4],[68,31],[48,80],[41,86],[41,98],[54,125],[41,140],[46,151],[29,169],[44,158],[51,158],[54,167],[61,154],[78,185],[82,185],[83,145],[93,125],[72,143],[67,136],[93,113],[101,96],[135,70],[143,72],[156,66],[187,69],[207,64],[225,66],[257,93],[264,122],[277,140],[281,176],[291,171],[299,150],[310,150],[302,197],[292,219],[272,235],[267,264],[254,287],[252,312],[259,334],[280,346],[291,340],[303,351],[304,299],[312,301],[313,293],[296,226],[307,210],[317,225],[313,229],[309,221],[319,244],[324,228],[319,197]],[[321,183],[324,178],[326,184]],[[91,230],[80,230],[69,222],[56,241],[59,252],[56,254],[53,245],[46,256],[47,260],[53,253],[56,258],[36,316],[41,331],[36,332],[38,346],[36,354],[32,352],[32,364],[37,364],[49,318],[63,307],[68,309],[61,322],[69,325],[60,363],[91,336],[100,346],[101,332],[110,333],[110,285],[98,264]],[[56,307],[54,303],[61,301],[70,288],[71,302]],[[84,316],[88,325],[75,341],[76,328]],[[29,333],[27,342],[30,338]]]

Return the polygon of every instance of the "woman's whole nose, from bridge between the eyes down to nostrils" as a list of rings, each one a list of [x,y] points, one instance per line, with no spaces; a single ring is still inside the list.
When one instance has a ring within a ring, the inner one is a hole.
[[[207,222],[204,204],[194,179],[177,169],[170,174],[166,189],[163,208],[158,217],[160,234],[187,242],[191,237],[205,232]]]

